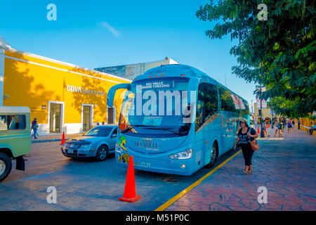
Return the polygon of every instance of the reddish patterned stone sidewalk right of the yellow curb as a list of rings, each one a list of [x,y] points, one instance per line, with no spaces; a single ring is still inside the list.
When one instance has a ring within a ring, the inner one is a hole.
[[[166,210],[316,210],[316,137],[297,128],[283,137],[259,139],[253,173],[243,174],[238,153]],[[272,134],[273,132],[273,134]],[[268,203],[258,203],[259,187]]]

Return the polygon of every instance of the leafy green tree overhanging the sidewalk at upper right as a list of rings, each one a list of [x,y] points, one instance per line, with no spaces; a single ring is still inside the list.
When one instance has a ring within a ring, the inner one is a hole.
[[[259,20],[259,4],[267,20]],[[206,30],[211,39],[239,40],[230,49],[237,77],[267,86],[262,96],[277,114],[304,117],[316,109],[315,12],[307,0],[211,0],[196,15],[216,22]]]

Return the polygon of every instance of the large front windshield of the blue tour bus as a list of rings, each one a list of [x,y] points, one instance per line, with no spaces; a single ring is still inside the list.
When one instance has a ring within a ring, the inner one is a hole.
[[[124,99],[119,131],[133,136],[172,137],[187,135],[191,123],[187,110],[189,79],[166,77],[134,81]]]

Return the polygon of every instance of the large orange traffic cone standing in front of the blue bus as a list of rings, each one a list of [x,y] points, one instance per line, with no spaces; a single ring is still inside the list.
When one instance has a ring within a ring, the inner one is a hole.
[[[122,198],[119,198],[119,200],[133,203],[139,198],[140,198],[140,195],[136,195],[134,163],[133,163],[133,156],[131,155],[131,158],[129,158],[129,168],[127,169],[124,195]]]

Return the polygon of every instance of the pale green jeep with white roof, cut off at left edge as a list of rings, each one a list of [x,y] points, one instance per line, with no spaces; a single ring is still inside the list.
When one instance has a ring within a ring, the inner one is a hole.
[[[31,152],[31,124],[29,108],[0,106],[0,181],[16,169],[25,170],[23,155]]]

